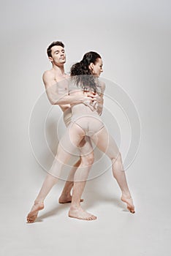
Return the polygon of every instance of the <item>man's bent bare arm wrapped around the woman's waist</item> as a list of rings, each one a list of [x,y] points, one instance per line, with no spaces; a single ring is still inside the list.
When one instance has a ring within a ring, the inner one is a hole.
[[[67,105],[67,104],[79,104],[89,101],[93,101],[94,95],[87,94],[85,95],[69,95],[68,91],[66,93],[59,94],[58,93],[58,85],[56,80],[54,79],[53,73],[50,71],[45,71],[43,74],[43,82],[45,84],[45,89],[47,93],[47,97],[52,105]],[[62,83],[62,82],[61,82]],[[66,81],[64,81],[66,83]]]

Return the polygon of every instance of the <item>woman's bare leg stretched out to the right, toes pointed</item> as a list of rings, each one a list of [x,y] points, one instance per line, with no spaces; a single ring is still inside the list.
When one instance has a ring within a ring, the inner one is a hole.
[[[123,169],[123,163],[121,153],[118,150],[118,146],[115,140],[108,134],[106,128],[102,128],[91,139],[96,143],[96,146],[112,161],[113,176],[118,182],[118,186],[121,188],[121,200],[127,203],[127,208],[130,212],[134,213],[134,205],[129,191],[129,187],[126,181],[125,171]]]

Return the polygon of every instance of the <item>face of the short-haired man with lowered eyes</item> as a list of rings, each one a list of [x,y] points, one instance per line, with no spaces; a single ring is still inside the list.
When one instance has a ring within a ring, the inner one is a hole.
[[[60,45],[55,45],[51,48],[51,56],[49,60],[57,66],[66,62],[65,50]]]

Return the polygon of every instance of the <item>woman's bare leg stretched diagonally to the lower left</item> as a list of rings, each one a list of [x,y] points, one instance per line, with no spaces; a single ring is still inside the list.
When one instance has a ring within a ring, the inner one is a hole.
[[[72,152],[79,145],[84,135],[83,129],[78,127],[76,124],[72,124],[66,130],[65,135],[63,138],[61,138],[58,144],[58,150],[53,161],[53,165],[50,167],[45,181],[42,184],[42,188],[34,201],[34,206],[31,208],[31,211],[27,216],[28,222],[34,222],[37,218],[39,210],[44,208],[45,197],[58,181],[62,167],[66,164],[66,162],[68,162],[69,158],[72,156]]]

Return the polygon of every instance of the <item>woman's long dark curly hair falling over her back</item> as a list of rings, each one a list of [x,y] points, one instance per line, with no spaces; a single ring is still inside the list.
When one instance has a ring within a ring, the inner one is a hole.
[[[83,56],[82,61],[75,63],[71,68],[72,80],[84,91],[97,91],[98,80],[89,69],[91,63],[96,64],[97,59],[102,59],[98,53],[90,51]]]

